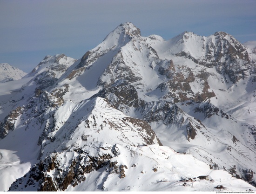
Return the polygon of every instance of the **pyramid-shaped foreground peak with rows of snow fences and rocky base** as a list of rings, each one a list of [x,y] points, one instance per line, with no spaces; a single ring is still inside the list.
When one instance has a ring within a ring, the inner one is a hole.
[[[52,121],[52,127],[45,129],[46,131],[42,134],[38,143],[41,145],[40,162],[35,164],[24,177],[14,182],[10,187],[11,191],[22,190],[23,188],[19,188],[20,182],[24,184],[25,188],[31,189],[39,185],[37,191],[64,191],[70,185],[75,187],[82,181],[85,181],[87,174],[103,167],[108,168],[110,174],[119,174],[120,178],[124,178],[127,166],[123,164],[117,165],[118,162],[115,162],[115,159],[120,155],[120,149],[124,149],[124,147],[128,145],[135,147],[136,143],[144,146],[155,143],[162,145],[150,125],[143,120],[131,117],[120,117],[118,114],[113,114],[115,111],[118,113],[118,111],[112,108],[110,117],[102,121],[99,118],[108,112],[95,113],[102,107],[107,107],[108,110],[110,110],[111,107],[99,97],[92,101],[96,104],[95,107],[93,107],[92,110],[88,110],[89,115],[87,118],[84,118],[83,121],[81,121],[81,119],[78,120],[79,122],[77,123],[76,129],[72,131],[72,133],[75,134],[80,134],[79,131],[83,131],[83,133],[87,135],[74,137],[74,139],[81,138],[82,141],[80,143],[73,143],[70,147],[63,148],[62,142],[70,142],[73,139],[72,137],[70,138],[66,134],[60,136],[57,135],[58,132],[54,132],[60,130],[57,127],[58,123],[56,123],[56,120],[58,120],[58,118],[55,113],[55,121]],[[87,107],[86,103],[77,111],[86,111],[87,109],[85,107]],[[47,126],[50,126],[50,124],[48,123]],[[65,125],[63,125],[62,130],[70,133],[68,126],[65,127]],[[111,145],[104,143],[104,136],[100,134],[104,134],[106,130],[109,131],[109,136],[116,138],[116,142],[120,144],[116,143]],[[94,131],[99,135],[96,135]],[[133,137],[136,136],[136,141],[132,141],[132,137],[128,139],[125,132],[133,134]],[[97,136],[96,142],[94,140],[95,135]],[[98,138],[100,141],[98,141]],[[51,143],[49,144],[49,142],[54,142],[54,148],[50,146]],[[48,153],[45,153],[46,150],[48,150]],[[66,158],[66,155],[73,156],[71,158],[68,157],[67,161],[63,163],[63,157]],[[49,175],[49,173],[52,175]]]

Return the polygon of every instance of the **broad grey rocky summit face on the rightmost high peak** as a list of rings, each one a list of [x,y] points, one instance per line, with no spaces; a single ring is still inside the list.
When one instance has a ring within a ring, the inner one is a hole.
[[[196,36],[191,32],[185,32],[180,43],[191,43]],[[219,73],[227,75],[232,83],[241,78],[248,78],[248,75],[255,71],[255,65],[249,65],[251,61],[246,47],[226,32],[216,32],[208,39],[202,37],[198,42],[202,44],[202,56],[195,57],[196,54],[189,50],[175,55],[189,58],[198,65],[215,67]]]

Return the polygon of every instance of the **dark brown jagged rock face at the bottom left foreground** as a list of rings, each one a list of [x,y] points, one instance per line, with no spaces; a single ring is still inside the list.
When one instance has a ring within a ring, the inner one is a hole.
[[[18,182],[25,182],[26,187],[34,187],[39,184],[37,191],[65,191],[69,185],[75,187],[86,180],[86,174],[107,166],[112,155],[90,156],[84,150],[75,150],[79,155],[74,157],[63,170],[61,166],[61,155],[52,154],[40,164],[34,165],[29,174],[20,178]],[[47,173],[56,171],[53,178]],[[27,176],[29,179],[27,179]],[[19,184],[13,183],[11,190],[20,190]]]

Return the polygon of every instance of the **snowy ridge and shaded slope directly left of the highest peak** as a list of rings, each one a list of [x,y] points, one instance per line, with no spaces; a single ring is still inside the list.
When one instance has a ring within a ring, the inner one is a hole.
[[[46,56],[24,78],[11,83],[0,83],[0,120],[11,110],[23,106],[35,93],[52,86],[76,59],[64,54]],[[1,131],[1,129],[0,129]]]

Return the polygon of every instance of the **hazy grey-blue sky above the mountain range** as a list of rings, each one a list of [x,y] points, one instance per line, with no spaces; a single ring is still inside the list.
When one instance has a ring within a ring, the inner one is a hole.
[[[79,59],[124,22],[168,40],[223,31],[256,40],[256,0],[0,0],[0,63],[30,72],[47,55]]]

